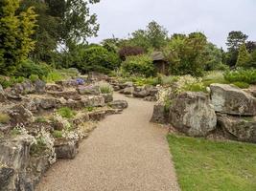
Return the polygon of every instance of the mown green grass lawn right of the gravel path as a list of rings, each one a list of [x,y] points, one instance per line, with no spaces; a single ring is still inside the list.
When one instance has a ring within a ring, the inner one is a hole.
[[[168,136],[182,191],[256,191],[256,145]]]

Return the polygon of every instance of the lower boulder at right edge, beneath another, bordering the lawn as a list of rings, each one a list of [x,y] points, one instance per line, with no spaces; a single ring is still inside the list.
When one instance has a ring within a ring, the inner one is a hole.
[[[256,118],[218,114],[218,124],[226,138],[256,143]]]

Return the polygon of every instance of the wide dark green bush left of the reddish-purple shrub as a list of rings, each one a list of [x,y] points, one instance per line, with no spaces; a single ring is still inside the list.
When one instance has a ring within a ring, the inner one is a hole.
[[[99,72],[109,74],[121,63],[117,53],[108,52],[104,47],[91,47],[81,51],[75,66],[82,73]]]

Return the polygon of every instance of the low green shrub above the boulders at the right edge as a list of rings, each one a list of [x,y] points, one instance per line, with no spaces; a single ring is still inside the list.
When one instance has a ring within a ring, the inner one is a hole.
[[[224,78],[230,83],[243,81],[248,84],[256,84],[256,70],[239,69],[236,71],[230,71],[224,74]]]

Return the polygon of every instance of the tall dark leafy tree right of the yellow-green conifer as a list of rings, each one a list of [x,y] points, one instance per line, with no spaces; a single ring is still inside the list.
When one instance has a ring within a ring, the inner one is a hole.
[[[68,53],[75,44],[86,44],[87,37],[99,30],[96,14],[90,14],[89,4],[100,0],[26,0],[21,11],[34,6],[38,14],[34,39],[35,60],[52,62],[58,48]]]

